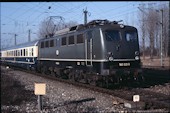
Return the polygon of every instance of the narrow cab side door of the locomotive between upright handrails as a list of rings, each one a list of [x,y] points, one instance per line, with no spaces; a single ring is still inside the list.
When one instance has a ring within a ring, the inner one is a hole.
[[[85,59],[86,59],[86,65],[92,66],[92,44],[93,44],[93,32],[87,31],[85,33]]]

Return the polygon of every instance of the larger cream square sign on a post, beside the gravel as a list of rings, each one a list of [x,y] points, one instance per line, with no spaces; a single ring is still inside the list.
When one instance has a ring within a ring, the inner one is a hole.
[[[38,95],[38,109],[41,111],[43,109],[42,95],[46,95],[46,84],[35,83],[34,94]]]

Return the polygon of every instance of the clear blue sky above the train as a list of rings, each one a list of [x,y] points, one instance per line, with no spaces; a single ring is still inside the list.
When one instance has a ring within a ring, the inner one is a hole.
[[[41,22],[49,16],[62,16],[64,22],[76,21],[84,23],[83,10],[87,9],[87,21],[94,19],[108,19],[110,21],[123,20],[123,24],[139,27],[138,7],[142,3],[151,3],[154,7],[164,2],[1,2],[1,48],[14,45],[17,34],[17,44],[28,41],[28,31],[31,30],[31,41],[38,38]],[[56,19],[56,22],[59,22]],[[140,34],[140,33],[139,33]],[[141,38],[139,36],[139,42]]]

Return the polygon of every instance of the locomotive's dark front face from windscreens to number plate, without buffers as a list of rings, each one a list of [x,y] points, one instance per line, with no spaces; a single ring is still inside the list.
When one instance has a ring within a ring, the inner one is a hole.
[[[112,65],[115,67],[140,67],[138,34],[136,28],[129,26],[120,29],[109,28],[104,30],[103,35],[105,37],[106,56],[108,60],[120,62],[119,65]]]

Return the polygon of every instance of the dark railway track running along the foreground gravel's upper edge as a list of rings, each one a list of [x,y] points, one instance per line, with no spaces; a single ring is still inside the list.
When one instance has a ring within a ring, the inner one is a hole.
[[[167,109],[170,111],[170,104],[169,104],[170,97],[168,95],[164,95],[161,93],[146,91],[146,90],[143,90],[142,88],[133,88],[133,86],[132,87],[122,87],[122,88],[118,88],[118,89],[106,89],[106,88],[96,87],[96,86],[83,84],[83,83],[79,83],[79,82],[72,82],[72,81],[66,80],[66,79],[60,79],[60,78],[52,77],[49,75],[37,73],[34,71],[23,70],[23,69],[16,68],[16,67],[12,67],[12,68],[20,70],[20,71],[24,71],[26,73],[31,73],[31,74],[34,74],[37,76],[42,76],[42,77],[45,77],[48,79],[57,80],[59,82],[64,82],[64,83],[72,84],[72,85],[75,85],[78,87],[83,87],[83,88],[87,88],[87,89],[90,89],[93,91],[98,91],[101,93],[109,94],[109,95],[116,96],[116,97],[125,99],[127,101],[131,101],[131,102],[132,102],[133,95],[138,94],[138,95],[140,95],[140,101],[145,104],[142,109],[148,110],[148,109],[156,108],[156,109]]]

